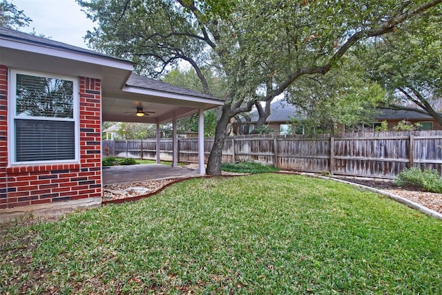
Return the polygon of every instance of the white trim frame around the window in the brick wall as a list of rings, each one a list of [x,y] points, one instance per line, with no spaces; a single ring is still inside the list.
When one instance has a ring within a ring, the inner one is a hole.
[[[73,118],[52,118],[52,117],[21,117],[17,116],[17,104],[15,97],[17,95],[17,74],[32,75],[37,77],[64,79],[73,82]],[[74,122],[75,134],[75,159],[72,160],[49,160],[49,161],[15,161],[15,119],[26,120],[45,120],[45,121],[61,121]],[[79,144],[79,79],[78,77],[51,75],[48,73],[32,72],[28,70],[10,69],[8,73],[8,160],[10,166],[19,165],[39,165],[39,164],[64,164],[64,163],[79,163],[80,144]]]

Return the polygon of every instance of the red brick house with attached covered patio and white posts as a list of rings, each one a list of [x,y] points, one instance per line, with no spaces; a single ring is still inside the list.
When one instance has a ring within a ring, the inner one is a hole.
[[[223,104],[132,71],[131,61],[0,27],[0,219],[101,204],[102,121],[159,129],[198,113],[204,130],[203,111]]]

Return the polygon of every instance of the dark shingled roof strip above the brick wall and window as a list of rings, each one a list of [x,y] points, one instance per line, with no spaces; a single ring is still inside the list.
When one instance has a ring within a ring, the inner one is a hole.
[[[120,59],[118,57],[113,57],[112,55],[105,55],[104,53],[97,53],[96,51],[93,51],[93,50],[88,50],[85,48],[72,46],[72,45],[62,43],[59,41],[54,41],[54,40],[47,39],[44,37],[38,37],[36,35],[27,34],[26,32],[19,32],[18,30],[3,28],[1,26],[0,26],[0,37],[2,37],[4,39],[12,39],[12,40],[16,40],[16,41],[24,41],[26,43],[32,43],[32,44],[40,45],[40,46],[47,46],[47,47],[55,48],[55,49],[68,50],[73,53],[81,53],[84,55],[103,57],[106,59],[113,59],[116,61],[126,61],[127,63],[133,64],[131,61],[128,61],[126,59]]]

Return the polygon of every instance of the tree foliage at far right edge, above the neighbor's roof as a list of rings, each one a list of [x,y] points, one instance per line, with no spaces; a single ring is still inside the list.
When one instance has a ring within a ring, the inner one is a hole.
[[[442,14],[410,22],[361,48],[370,77],[388,91],[385,108],[414,110],[442,125]]]

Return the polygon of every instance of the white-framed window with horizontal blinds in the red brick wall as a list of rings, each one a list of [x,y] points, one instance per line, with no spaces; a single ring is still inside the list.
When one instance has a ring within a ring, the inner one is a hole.
[[[11,70],[12,164],[78,159],[78,82]]]

